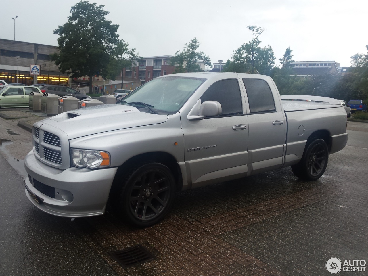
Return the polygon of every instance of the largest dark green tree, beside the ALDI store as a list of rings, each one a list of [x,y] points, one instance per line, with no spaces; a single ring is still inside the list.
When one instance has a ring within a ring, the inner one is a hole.
[[[68,22],[54,31],[59,35],[60,53],[53,54],[52,60],[63,74],[72,74],[73,78],[89,76],[89,92],[92,92],[94,75],[106,78],[110,54],[118,42],[119,25],[106,20],[109,12],[103,8],[103,5],[79,1],[71,7]]]

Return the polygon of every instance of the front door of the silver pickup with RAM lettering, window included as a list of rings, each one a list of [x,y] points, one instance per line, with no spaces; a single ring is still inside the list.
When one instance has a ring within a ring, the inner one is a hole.
[[[201,103],[207,100],[219,102],[222,115],[193,121],[181,118],[192,187],[247,174],[248,119],[238,79],[212,84],[201,96]]]

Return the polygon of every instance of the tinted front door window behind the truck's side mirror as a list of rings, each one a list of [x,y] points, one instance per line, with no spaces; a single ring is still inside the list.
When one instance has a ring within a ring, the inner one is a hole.
[[[214,100],[221,104],[222,115],[243,114],[237,79],[224,79],[212,84],[201,97],[201,102]]]

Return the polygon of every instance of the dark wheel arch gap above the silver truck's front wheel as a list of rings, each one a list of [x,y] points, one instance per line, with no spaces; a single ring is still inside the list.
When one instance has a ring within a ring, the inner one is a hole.
[[[176,158],[167,152],[146,152],[131,157],[118,167],[110,190],[110,195],[112,195],[112,193],[114,193],[120,187],[121,177],[123,177],[124,174],[128,173],[138,164],[142,164],[145,162],[158,162],[167,166],[174,176],[176,189],[178,191],[181,190],[181,188],[183,187],[183,177],[181,175],[181,170]]]

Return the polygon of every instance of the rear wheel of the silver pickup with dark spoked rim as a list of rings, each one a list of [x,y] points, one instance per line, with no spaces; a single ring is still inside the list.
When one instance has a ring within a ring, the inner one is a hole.
[[[303,157],[296,165],[291,166],[294,175],[308,181],[319,179],[328,163],[328,147],[323,139],[315,139],[305,147]]]

